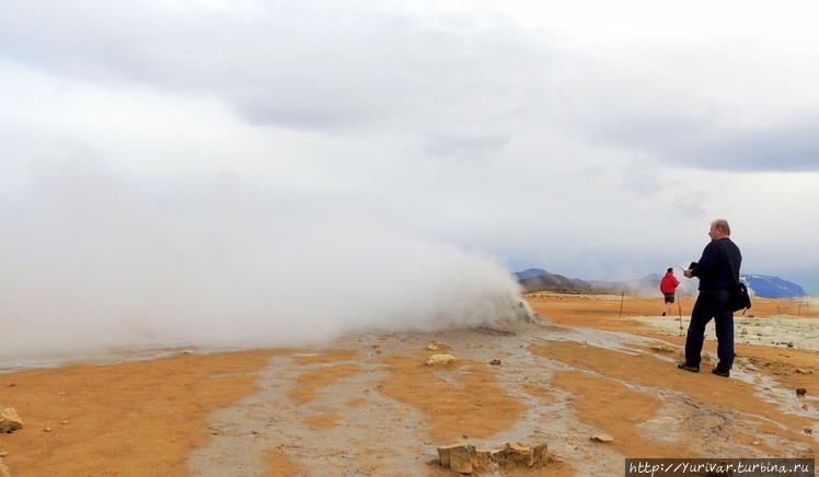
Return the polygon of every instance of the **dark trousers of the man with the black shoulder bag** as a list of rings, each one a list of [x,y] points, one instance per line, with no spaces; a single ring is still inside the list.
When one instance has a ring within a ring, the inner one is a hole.
[[[727,290],[700,290],[694,310],[691,312],[689,335],[685,338],[685,364],[699,367],[705,339],[705,325],[714,318],[717,331],[717,356],[720,371],[734,365],[734,312],[728,310]]]

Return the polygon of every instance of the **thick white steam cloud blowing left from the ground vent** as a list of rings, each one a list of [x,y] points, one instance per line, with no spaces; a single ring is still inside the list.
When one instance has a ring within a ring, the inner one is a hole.
[[[297,345],[524,313],[517,283],[488,257],[232,177],[146,188],[64,163],[3,201],[0,362]]]

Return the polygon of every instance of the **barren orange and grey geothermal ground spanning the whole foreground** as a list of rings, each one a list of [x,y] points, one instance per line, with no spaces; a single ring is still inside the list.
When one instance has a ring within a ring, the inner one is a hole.
[[[657,317],[660,299],[626,299],[622,317],[619,298],[529,301],[547,319],[0,374],[0,405],[25,422],[0,435],[0,452],[14,477],[447,476],[431,464],[436,447],[461,442],[546,442],[562,459],[489,474],[508,476],[622,475],[626,456],[815,455],[818,353],[771,345],[788,341],[776,327],[766,345],[738,336],[724,379],[707,363],[676,369],[684,338],[669,325],[677,316]],[[683,316],[691,305],[682,300]],[[754,326],[788,306],[758,300]],[[796,319],[812,329],[817,318]],[[427,350],[432,340],[451,350]],[[437,352],[458,361],[425,367]],[[598,433],[614,440],[589,439]]]

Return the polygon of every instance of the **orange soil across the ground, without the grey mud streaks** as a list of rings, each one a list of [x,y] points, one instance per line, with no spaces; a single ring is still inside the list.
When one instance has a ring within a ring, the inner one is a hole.
[[[669,337],[649,326],[618,318],[619,301],[539,294],[530,298],[530,303],[555,325],[628,331],[676,345],[684,342],[684,338]],[[692,300],[683,299],[681,304],[683,313],[685,310],[690,313]],[[785,313],[788,305],[787,301],[757,301],[752,313],[757,316]],[[659,299],[626,299],[623,315],[657,315],[660,306]],[[457,336],[459,331],[451,333]],[[542,333],[547,335],[550,327],[542,328]],[[498,340],[492,335],[481,339],[485,340],[481,345],[485,348]],[[324,389],[334,383],[362,379],[373,367],[385,373],[377,385],[341,396],[339,408],[293,416],[295,422],[315,429],[316,441],[339,428],[350,429],[350,432],[360,428],[364,439],[376,443],[383,440],[373,434],[373,428],[350,426],[346,421],[345,411],[370,406],[376,394],[418,412],[427,426],[427,431],[418,435],[418,442],[429,440],[431,445],[437,445],[457,442],[464,435],[492,439],[521,424],[522,416],[531,409],[505,387],[520,381],[520,391],[535,399],[537,406],[558,406],[582,424],[614,435],[613,443],[599,444],[602,451],[612,449],[635,456],[690,457],[693,456],[691,445],[702,444],[710,435],[697,433],[697,426],[727,427],[738,443],[754,446],[771,456],[780,455],[776,442],[781,441],[777,440],[803,443],[805,449],[816,450],[814,438],[803,432],[811,422],[755,397],[749,383],[710,373],[680,372],[659,354],[635,357],[577,341],[533,339],[534,345],[516,346],[514,352],[543,360],[538,364],[543,369],[529,370],[531,374],[522,380],[519,377],[523,376],[509,374],[511,371],[506,365],[489,367],[488,360],[465,359],[446,369],[424,367],[423,361],[430,353],[416,345],[412,348],[416,351],[407,352],[401,334],[382,336],[378,345],[366,349],[331,349],[318,354],[304,354],[302,350],[185,354],[117,365],[72,365],[0,374],[0,405],[16,408],[26,424],[21,431],[0,435],[0,452],[8,452],[4,462],[14,477],[186,475],[186,457],[211,438],[207,423],[210,412],[232,406],[256,392],[254,373],[275,356],[287,357],[292,363],[293,372],[287,375],[289,387],[280,398],[295,409],[325,398]],[[715,344],[706,342],[707,349],[714,350]],[[809,393],[819,392],[819,353],[816,351],[750,345],[739,345],[737,351],[740,357],[755,360],[760,373],[771,376],[784,388],[806,387]],[[455,348],[452,352],[460,350]],[[500,351],[492,352],[501,356]],[[506,364],[506,358],[504,360]],[[549,375],[545,364],[549,360],[573,370],[555,371],[546,380],[543,376]],[[796,373],[796,368],[807,373]],[[690,406],[687,405],[684,416],[702,421],[676,430],[682,441],[656,441],[646,433],[645,426],[669,412],[664,408],[667,403],[662,399],[667,398],[660,398],[655,392],[637,391],[635,386],[689,396]],[[731,416],[736,411],[737,416],[753,414],[758,417],[747,422],[712,422],[717,418],[708,417],[702,406],[733,409],[728,411]],[[43,430],[47,427],[51,428],[50,432]],[[577,442],[578,446],[590,445],[586,434],[567,433],[561,439]],[[590,446],[585,452],[595,452],[595,449]],[[292,446],[275,444],[265,451],[269,466],[266,475],[309,475]],[[357,451],[362,452],[349,449],[350,456],[371,458],[367,468],[378,474],[379,458],[383,456],[356,456]],[[510,469],[505,475],[572,475],[576,465],[572,464],[569,451],[564,452],[567,461],[564,464],[538,473]],[[435,465],[429,465],[426,472],[432,476],[451,475]]]

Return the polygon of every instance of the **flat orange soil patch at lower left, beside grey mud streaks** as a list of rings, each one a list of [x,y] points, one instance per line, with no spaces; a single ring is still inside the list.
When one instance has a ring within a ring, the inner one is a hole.
[[[1,404],[25,422],[0,435],[0,450],[14,477],[185,475],[187,454],[208,440],[208,414],[253,393],[251,373],[275,353],[0,374]]]

